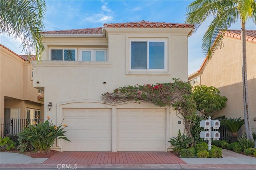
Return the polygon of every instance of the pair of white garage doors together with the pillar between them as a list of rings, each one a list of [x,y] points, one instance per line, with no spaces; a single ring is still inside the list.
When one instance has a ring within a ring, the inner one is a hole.
[[[63,116],[71,140],[63,151],[166,151],[166,109],[68,108]]]

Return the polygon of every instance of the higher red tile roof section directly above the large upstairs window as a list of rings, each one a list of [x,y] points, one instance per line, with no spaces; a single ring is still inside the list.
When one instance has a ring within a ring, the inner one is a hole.
[[[127,22],[127,23],[116,23],[116,24],[104,24],[104,27],[113,28],[194,28],[191,24],[174,24],[165,22]]]

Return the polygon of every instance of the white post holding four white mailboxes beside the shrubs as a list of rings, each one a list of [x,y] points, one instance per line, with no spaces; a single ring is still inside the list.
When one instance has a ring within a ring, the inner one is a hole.
[[[211,138],[213,138],[213,140],[219,140],[220,139],[220,132],[211,131],[211,128],[219,129],[220,128],[220,121],[218,121],[218,120],[211,121],[211,117],[209,116],[208,120],[200,121],[200,127],[204,127],[204,129],[208,130],[208,131],[201,131],[200,132],[200,138],[204,138],[204,140],[208,141],[208,150],[211,150],[212,149]]]

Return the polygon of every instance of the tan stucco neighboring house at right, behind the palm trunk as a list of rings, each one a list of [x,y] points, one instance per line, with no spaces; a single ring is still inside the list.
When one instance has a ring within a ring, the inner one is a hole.
[[[250,119],[256,132],[256,30],[246,31],[247,79]],[[191,85],[214,86],[226,96],[226,107],[215,114],[227,118],[244,118],[242,87],[242,40],[240,30],[228,30],[223,46],[210,60],[204,59],[200,69],[188,76]],[[244,133],[244,129],[242,134]]]

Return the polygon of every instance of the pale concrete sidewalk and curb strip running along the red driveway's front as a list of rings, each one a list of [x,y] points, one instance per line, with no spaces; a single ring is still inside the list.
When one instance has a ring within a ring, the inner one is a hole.
[[[186,164],[68,164],[70,168],[176,168],[176,169],[256,169],[256,158],[222,150],[223,158],[180,158]],[[1,168],[60,168],[62,164],[42,164],[48,158],[31,158],[0,152]],[[74,158],[75,159],[75,158]]]

